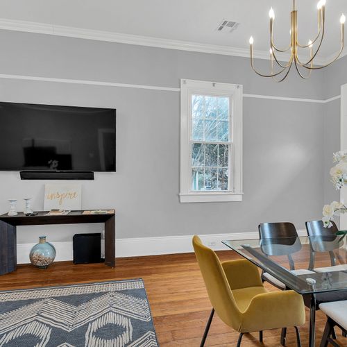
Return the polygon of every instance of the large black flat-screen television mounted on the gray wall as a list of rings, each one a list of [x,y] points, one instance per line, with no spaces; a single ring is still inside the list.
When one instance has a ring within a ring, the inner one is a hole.
[[[116,110],[0,102],[0,170],[116,171]]]

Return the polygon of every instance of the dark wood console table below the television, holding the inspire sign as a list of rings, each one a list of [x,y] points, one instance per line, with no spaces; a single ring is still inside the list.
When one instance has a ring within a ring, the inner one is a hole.
[[[108,214],[83,214],[71,211],[69,214],[47,216],[38,212],[36,216],[0,216],[0,275],[17,268],[17,226],[40,226],[46,224],[105,223],[105,264],[115,266],[115,212]]]

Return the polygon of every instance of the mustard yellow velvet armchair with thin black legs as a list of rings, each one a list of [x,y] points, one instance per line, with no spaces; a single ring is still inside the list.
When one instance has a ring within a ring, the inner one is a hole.
[[[267,291],[257,266],[246,259],[220,262],[212,249],[193,237],[198,260],[212,312],[206,325],[201,347],[205,344],[214,310],[219,318],[239,332],[237,347],[246,332],[295,327],[298,346],[301,346],[298,325],[305,323],[303,298],[295,291]]]

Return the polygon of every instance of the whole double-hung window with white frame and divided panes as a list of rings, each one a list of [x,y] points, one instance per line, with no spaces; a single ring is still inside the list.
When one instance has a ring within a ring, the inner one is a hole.
[[[242,201],[242,85],[181,80],[180,202]]]

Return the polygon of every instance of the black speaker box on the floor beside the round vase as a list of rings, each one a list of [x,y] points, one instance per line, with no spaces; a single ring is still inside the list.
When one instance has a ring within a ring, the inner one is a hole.
[[[74,264],[103,262],[101,258],[101,234],[74,235]]]

